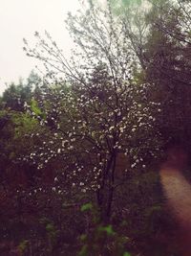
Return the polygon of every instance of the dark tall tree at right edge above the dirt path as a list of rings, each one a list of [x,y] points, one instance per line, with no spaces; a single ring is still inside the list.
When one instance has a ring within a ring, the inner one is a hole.
[[[146,79],[155,82],[163,100],[160,130],[190,145],[190,7],[185,1],[154,2],[147,20]],[[166,18],[168,17],[168,18]],[[168,116],[168,118],[167,118]]]

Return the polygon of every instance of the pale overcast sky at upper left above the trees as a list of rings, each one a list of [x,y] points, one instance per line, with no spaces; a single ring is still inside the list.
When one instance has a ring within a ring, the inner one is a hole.
[[[34,32],[47,30],[65,51],[70,37],[65,29],[66,13],[79,8],[78,0],[0,0],[0,93],[5,82],[27,78],[36,60],[23,52],[23,37],[34,41]]]

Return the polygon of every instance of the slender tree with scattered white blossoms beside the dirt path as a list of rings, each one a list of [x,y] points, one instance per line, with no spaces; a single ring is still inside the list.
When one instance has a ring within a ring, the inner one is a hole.
[[[78,47],[70,61],[50,35],[51,44],[36,34],[34,49],[26,42],[28,55],[44,60],[47,78],[53,80],[32,101],[30,111],[43,128],[32,134],[41,144],[25,159],[38,163],[39,169],[56,159],[54,181],[59,185],[54,189],[96,192],[101,220],[107,221],[125,174],[145,168],[143,159],[159,150],[155,126],[160,109],[151,100],[153,85],[136,77],[137,59],[124,23],[112,15],[110,5],[104,11],[92,5],[69,14],[68,26]],[[121,155],[127,161],[124,174],[118,175]]]

